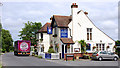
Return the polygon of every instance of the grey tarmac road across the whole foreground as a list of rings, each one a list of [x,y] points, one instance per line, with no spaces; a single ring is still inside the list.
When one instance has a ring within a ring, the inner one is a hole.
[[[64,61],[39,59],[33,56],[14,56],[13,52],[2,55],[3,66],[118,66],[118,61]]]

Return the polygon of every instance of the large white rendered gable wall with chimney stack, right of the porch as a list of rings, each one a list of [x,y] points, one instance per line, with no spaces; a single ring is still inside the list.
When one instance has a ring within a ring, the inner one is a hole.
[[[72,8],[72,12],[76,12],[76,11],[77,11],[77,8]],[[88,52],[92,52],[93,50],[92,47],[96,46],[96,43],[104,43],[105,50],[106,50],[106,46],[108,46],[108,43],[112,43],[112,45],[110,45],[110,48],[108,50],[113,51],[113,46],[115,45],[115,41],[112,40],[107,35],[105,35],[98,28],[96,28],[82,10],[79,14],[76,14],[76,13],[72,13],[72,14],[73,14],[72,15],[73,19],[68,26],[70,29],[72,29],[73,41],[75,42],[75,44],[73,45],[74,46],[73,48],[76,48],[76,47],[79,48],[78,41],[85,40],[87,43],[91,44],[91,51],[88,51]],[[92,28],[91,41],[87,40],[87,28]]]

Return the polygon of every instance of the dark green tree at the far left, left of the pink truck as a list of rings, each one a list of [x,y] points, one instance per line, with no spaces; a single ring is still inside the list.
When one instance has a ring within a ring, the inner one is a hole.
[[[2,29],[2,52],[13,50],[13,39],[8,30]]]

